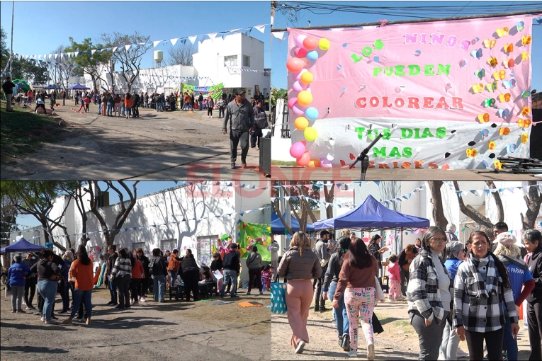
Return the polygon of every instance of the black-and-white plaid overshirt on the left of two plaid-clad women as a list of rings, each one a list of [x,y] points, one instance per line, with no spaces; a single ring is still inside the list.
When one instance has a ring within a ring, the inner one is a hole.
[[[431,322],[436,319],[437,323],[442,323],[444,319],[444,307],[439,290],[439,277],[431,259],[431,253],[422,249],[418,256],[410,263],[409,270],[410,280],[408,282],[407,301],[411,321],[414,311],[417,310],[424,316],[424,319]],[[450,294],[453,294],[453,284],[446,267],[444,267],[444,272],[446,272],[446,275],[450,279],[448,290]]]

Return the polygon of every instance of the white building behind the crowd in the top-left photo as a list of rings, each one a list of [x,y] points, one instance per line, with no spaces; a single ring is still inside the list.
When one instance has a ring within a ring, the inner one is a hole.
[[[192,55],[192,67],[173,65],[141,69],[132,90],[170,93],[181,83],[194,86],[222,83],[228,93],[234,88],[244,88],[248,98],[254,95],[256,88],[261,93],[271,93],[271,69],[265,69],[264,55],[264,42],[242,33],[204,40],[198,43],[198,52]],[[118,73],[118,67],[115,71],[115,89],[127,91],[128,86]],[[111,74],[104,70],[102,77],[108,83],[103,86],[111,88]],[[84,83],[93,87],[88,74],[85,74]]]

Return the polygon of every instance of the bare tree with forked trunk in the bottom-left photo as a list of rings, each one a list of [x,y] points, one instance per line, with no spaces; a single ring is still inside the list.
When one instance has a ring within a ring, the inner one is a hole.
[[[90,211],[92,214],[96,216],[96,219],[98,219],[98,222],[100,222],[100,227],[102,229],[103,238],[106,241],[107,247],[113,245],[113,242],[115,241],[115,236],[120,232],[120,228],[123,227],[124,222],[126,221],[126,218],[128,217],[128,214],[130,214],[130,211],[135,206],[135,202],[137,200],[137,183],[139,181],[136,181],[132,185],[132,190],[126,185],[124,181],[118,181],[117,183],[120,185],[120,187],[117,187],[113,184],[112,181],[106,181],[107,188],[105,190],[101,190],[100,185],[98,184],[98,181],[88,181],[88,185],[84,190],[89,193],[90,195]],[[128,193],[128,197],[130,197],[130,200],[128,202],[128,207],[125,205],[124,201],[124,195],[120,188],[123,188],[126,193]],[[117,214],[115,214],[115,219],[113,219],[113,223],[111,226],[108,226],[106,219],[104,218],[102,212],[98,208],[98,195],[100,195],[103,192],[107,192],[108,190],[114,190],[115,193],[118,195],[119,199],[119,207]]]

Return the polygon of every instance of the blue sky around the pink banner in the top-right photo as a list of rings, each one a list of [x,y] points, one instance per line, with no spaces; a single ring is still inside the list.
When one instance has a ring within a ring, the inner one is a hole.
[[[280,0],[279,0],[280,1]],[[312,0],[315,1],[315,0]],[[355,5],[355,4],[365,4],[366,6],[424,6],[426,8],[430,8],[431,6],[434,6],[434,2],[431,1],[379,1],[378,3],[373,1],[346,1],[346,0],[340,0],[340,1],[332,1],[332,0],[326,0],[324,3],[326,4],[332,4],[333,2],[337,2],[340,4],[349,4],[349,5]],[[518,5],[518,4],[538,4],[538,8],[542,9],[542,1],[438,1],[439,6],[458,6],[458,13],[456,16],[463,16],[468,13],[468,9],[465,9],[461,11],[461,7],[471,7],[471,6],[487,6],[487,5],[495,5],[498,4],[500,6],[503,6],[504,8],[507,7],[507,5]],[[444,17],[451,17],[448,15],[443,15],[442,13],[439,13],[439,7],[434,6],[434,13],[427,14],[423,13],[422,16],[426,18],[444,18]],[[517,10],[516,10],[517,11]],[[488,13],[487,11],[480,11],[480,14]],[[469,15],[471,15],[470,13]],[[298,21],[298,25],[294,26],[292,23],[287,22],[287,19],[285,16],[283,16],[278,11],[276,12],[275,16],[275,23],[273,25],[273,28],[279,29],[279,28],[295,28],[295,27],[307,27],[309,26],[309,21],[311,26],[319,26],[319,25],[340,25],[340,24],[354,24],[354,23],[376,23],[379,20],[385,19],[387,21],[399,21],[399,20],[415,20],[419,17],[405,17],[405,16],[388,16],[388,15],[373,15],[373,14],[366,14],[366,13],[346,13],[346,12],[334,12],[327,15],[315,15],[313,13],[310,13],[308,11],[303,11],[303,17],[300,18]],[[540,25],[533,25],[533,42],[532,42],[532,53],[531,53],[531,64],[536,64],[537,62],[540,62],[540,59],[542,58],[542,47],[539,45],[540,39],[542,38],[542,26]],[[272,62],[273,62],[273,72],[271,75],[271,86],[275,88],[287,88],[288,87],[288,79],[287,79],[287,70],[286,70],[286,60],[288,59],[288,38],[285,40],[282,40],[282,42],[278,42],[275,38],[273,38],[273,45],[272,45]],[[537,89],[537,91],[542,91],[542,67],[536,67],[533,66],[533,72],[532,72],[532,83],[531,83],[531,89]]]

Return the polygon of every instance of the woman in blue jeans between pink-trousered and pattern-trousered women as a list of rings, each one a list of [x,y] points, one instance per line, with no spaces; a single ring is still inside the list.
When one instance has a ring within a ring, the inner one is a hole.
[[[342,233],[342,232],[341,232]],[[348,251],[351,239],[346,234],[339,238],[337,252],[333,253],[329,258],[326,275],[324,277],[324,285],[322,287],[322,298],[327,299],[329,290],[329,298],[333,299],[337,290],[337,282],[339,282],[339,273],[341,272],[344,255]],[[344,305],[344,295],[341,296],[338,302],[339,306],[333,309],[335,323],[337,325],[337,336],[339,337],[339,346],[345,351],[350,350],[350,334],[348,314]]]

